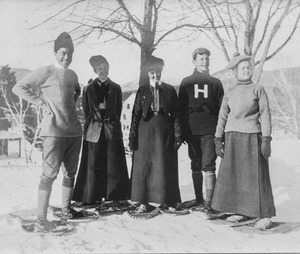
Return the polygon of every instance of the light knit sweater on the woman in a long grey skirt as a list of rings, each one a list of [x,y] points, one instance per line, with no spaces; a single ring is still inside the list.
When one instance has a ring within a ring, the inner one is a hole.
[[[219,112],[215,136],[224,132],[271,135],[271,114],[265,89],[258,84],[238,84],[226,92]]]

